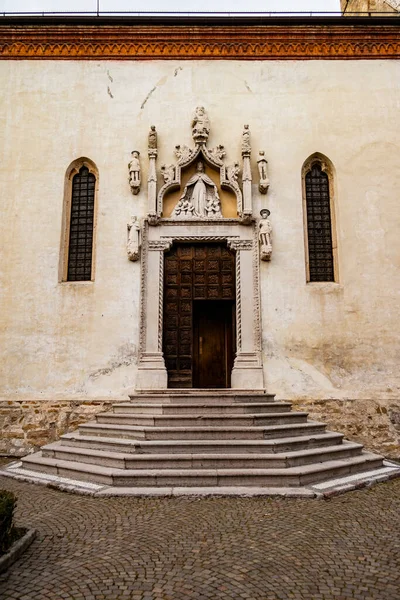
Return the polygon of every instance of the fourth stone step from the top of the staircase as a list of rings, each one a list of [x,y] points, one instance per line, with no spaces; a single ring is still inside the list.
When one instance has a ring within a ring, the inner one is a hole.
[[[141,440],[254,440],[294,437],[325,431],[323,423],[293,423],[291,425],[248,427],[154,427],[91,422],[81,425],[84,435],[101,435]]]

